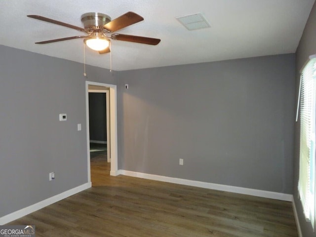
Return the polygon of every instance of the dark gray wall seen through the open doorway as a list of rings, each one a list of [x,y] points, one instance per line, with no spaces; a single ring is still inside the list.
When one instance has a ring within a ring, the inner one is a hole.
[[[90,140],[107,141],[106,94],[89,93]]]

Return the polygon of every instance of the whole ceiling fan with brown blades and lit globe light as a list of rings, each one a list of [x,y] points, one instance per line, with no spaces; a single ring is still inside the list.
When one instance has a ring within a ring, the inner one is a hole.
[[[66,37],[55,40],[46,40],[36,42],[38,44],[52,43],[64,40],[73,40],[73,39],[84,39],[84,43],[93,50],[99,51],[100,54],[110,52],[110,40],[122,40],[128,42],[136,43],[145,43],[151,45],[157,45],[160,42],[160,39],[141,37],[141,36],[132,36],[132,35],[123,35],[123,34],[111,34],[116,31],[119,31],[127,26],[133,25],[137,22],[144,20],[143,17],[134,13],[126,12],[125,14],[119,16],[118,18],[111,21],[111,17],[98,12],[88,12],[81,15],[81,22],[83,23],[84,28],[70,25],[61,21],[56,21],[47,17],[39,15],[28,15],[28,17],[38,19],[41,21],[46,21],[60,26],[65,26],[71,29],[78,30],[80,32],[86,33],[86,36],[73,36]]]

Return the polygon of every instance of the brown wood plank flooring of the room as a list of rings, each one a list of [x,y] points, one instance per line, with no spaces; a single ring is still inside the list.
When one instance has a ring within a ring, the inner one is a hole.
[[[290,202],[109,175],[91,160],[93,187],[20,218],[37,237],[297,237]]]

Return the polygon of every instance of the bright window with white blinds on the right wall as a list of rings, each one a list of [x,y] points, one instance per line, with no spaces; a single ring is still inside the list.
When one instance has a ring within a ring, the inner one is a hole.
[[[310,57],[300,81],[300,170],[298,191],[305,218],[315,225],[316,57]]]

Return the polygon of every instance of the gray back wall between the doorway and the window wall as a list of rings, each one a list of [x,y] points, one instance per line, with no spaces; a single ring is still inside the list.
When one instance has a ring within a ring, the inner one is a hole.
[[[294,54],[118,74],[119,168],[292,193]]]

